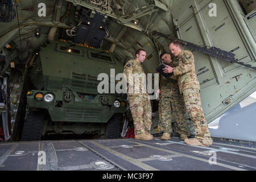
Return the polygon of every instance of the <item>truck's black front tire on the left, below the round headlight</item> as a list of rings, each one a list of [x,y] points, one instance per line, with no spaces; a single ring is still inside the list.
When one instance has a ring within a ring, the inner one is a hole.
[[[24,122],[21,141],[41,140],[44,116],[39,111],[28,111]]]

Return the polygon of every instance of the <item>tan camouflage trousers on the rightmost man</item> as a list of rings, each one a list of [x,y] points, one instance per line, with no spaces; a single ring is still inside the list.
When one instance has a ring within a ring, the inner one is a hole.
[[[199,89],[185,89],[183,90],[183,97],[189,117],[195,126],[195,138],[203,144],[210,144],[212,138],[210,138],[208,123],[201,106]]]

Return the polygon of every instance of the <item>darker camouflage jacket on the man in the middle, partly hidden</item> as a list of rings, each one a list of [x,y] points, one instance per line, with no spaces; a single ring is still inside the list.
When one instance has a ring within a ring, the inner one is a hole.
[[[172,61],[169,65],[170,67],[176,67],[177,62]],[[159,81],[159,86],[160,86],[160,97],[176,97],[179,96],[179,85],[177,83],[177,79],[175,79],[174,76],[170,78],[166,78],[163,75],[160,75],[160,81]]]

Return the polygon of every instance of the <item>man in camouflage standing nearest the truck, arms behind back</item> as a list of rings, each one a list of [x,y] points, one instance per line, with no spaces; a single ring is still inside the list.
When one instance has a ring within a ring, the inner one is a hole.
[[[146,51],[138,49],[136,57],[136,59],[128,61],[123,70],[127,81],[127,95],[131,115],[134,121],[134,134],[135,139],[152,140],[154,137],[149,133],[152,125],[152,109],[146,90],[146,73],[142,67],[142,63],[146,59]]]

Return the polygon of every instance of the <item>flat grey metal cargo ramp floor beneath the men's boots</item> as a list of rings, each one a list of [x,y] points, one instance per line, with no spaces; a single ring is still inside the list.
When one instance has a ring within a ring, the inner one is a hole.
[[[210,147],[188,146],[176,137],[1,143],[0,170],[255,171],[255,142],[213,139]]]

